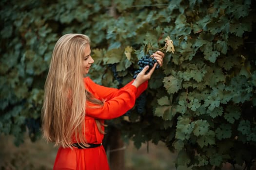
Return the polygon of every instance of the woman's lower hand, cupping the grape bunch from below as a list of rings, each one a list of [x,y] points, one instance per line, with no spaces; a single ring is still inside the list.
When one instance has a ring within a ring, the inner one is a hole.
[[[133,84],[134,86],[138,87],[145,81],[149,80],[153,72],[155,71],[155,68],[157,67],[157,63],[154,64],[153,68],[149,70],[149,72],[146,74],[146,71],[149,69],[149,66],[144,67],[140,73],[138,73],[136,79],[134,80]]]

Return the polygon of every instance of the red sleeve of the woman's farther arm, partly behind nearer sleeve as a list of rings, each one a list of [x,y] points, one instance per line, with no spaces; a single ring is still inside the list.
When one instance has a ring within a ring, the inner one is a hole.
[[[116,97],[118,95],[118,91],[127,88],[128,86],[132,85],[132,83],[134,82],[134,80],[132,80],[131,82],[129,82],[127,85],[125,85],[124,87],[117,89],[117,88],[112,88],[112,87],[105,87],[102,85],[98,85],[95,82],[93,82],[89,77],[84,78],[84,83],[86,85],[86,88],[89,88],[89,90],[93,93],[93,94],[97,94],[98,97],[100,97],[101,99],[105,99],[105,100],[110,100],[114,97]],[[139,97],[139,95],[145,91],[148,87],[148,81],[144,82],[143,84],[141,84],[136,91],[136,98]]]

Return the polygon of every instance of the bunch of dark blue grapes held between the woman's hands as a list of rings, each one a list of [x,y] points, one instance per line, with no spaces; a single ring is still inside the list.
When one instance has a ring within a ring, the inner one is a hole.
[[[139,66],[139,68],[138,68],[138,70],[136,70],[136,71],[134,72],[133,78],[136,79],[138,73],[140,73],[140,71],[141,71],[144,67],[146,67],[146,66],[149,66],[149,69],[146,71],[146,73],[148,73],[149,70],[150,70],[151,68],[153,68],[153,66],[154,66],[154,64],[155,64],[156,62],[157,62],[157,60],[156,60],[155,58],[153,58],[153,57],[150,57],[150,55],[145,55],[145,56],[141,57],[141,58],[138,60],[138,66]],[[158,69],[158,68],[160,68],[159,64],[157,65],[156,69]]]

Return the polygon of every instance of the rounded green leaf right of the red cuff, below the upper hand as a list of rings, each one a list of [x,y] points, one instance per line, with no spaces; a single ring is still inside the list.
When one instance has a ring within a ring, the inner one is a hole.
[[[169,94],[176,93],[181,88],[182,80],[170,75],[163,79],[163,84],[165,89]]]

